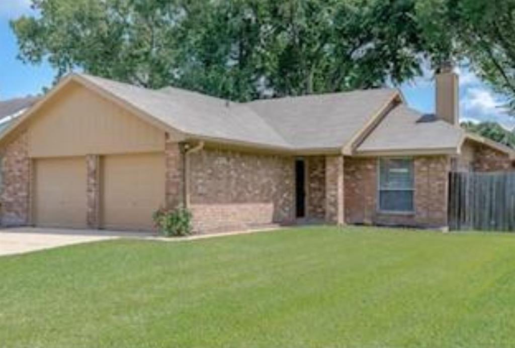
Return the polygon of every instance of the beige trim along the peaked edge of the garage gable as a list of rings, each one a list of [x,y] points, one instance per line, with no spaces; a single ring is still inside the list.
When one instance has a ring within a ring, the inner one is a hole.
[[[155,117],[147,114],[146,112],[142,111],[137,106],[132,105],[131,103],[118,98],[117,96],[111,94],[109,91],[105,90],[104,88],[99,87],[98,85],[88,81],[87,79],[81,77],[80,75],[71,74],[66,76],[64,79],[62,79],[54,88],[52,88],[43,98],[41,98],[36,104],[32,105],[25,113],[23,113],[21,116],[16,119],[7,130],[0,135],[0,145],[5,142],[5,140],[10,138],[11,133],[18,129],[18,127],[25,123],[26,120],[28,120],[32,115],[36,114],[36,112],[43,107],[43,105],[46,104],[48,100],[50,100],[52,97],[54,97],[59,91],[66,86],[68,86],[71,82],[77,82],[81,84],[82,86],[95,91],[100,96],[108,99],[109,101],[124,107],[129,111],[130,113],[134,114],[135,116],[140,117],[144,121],[158,127],[159,129],[170,133],[172,136],[174,136],[177,141],[181,141],[184,139],[184,134],[173,127],[170,127],[169,125],[163,123],[162,121],[156,119]]]

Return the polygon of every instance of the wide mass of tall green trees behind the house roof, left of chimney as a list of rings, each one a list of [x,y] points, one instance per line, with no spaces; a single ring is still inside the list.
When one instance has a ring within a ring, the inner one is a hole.
[[[20,58],[232,100],[400,83],[425,52],[416,0],[32,0]]]

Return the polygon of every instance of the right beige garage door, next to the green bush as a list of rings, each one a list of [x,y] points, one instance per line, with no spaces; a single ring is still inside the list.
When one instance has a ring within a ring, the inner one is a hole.
[[[102,227],[152,229],[152,213],[164,204],[164,176],[163,154],[102,157]]]

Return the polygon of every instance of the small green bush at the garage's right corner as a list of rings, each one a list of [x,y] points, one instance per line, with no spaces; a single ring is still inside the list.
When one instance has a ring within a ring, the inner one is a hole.
[[[192,233],[192,213],[184,207],[159,209],[153,214],[156,228],[166,237],[183,236]]]

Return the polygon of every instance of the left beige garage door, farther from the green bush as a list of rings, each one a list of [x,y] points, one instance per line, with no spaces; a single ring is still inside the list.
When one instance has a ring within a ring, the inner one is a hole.
[[[35,224],[84,228],[86,225],[86,162],[84,157],[35,160]]]

